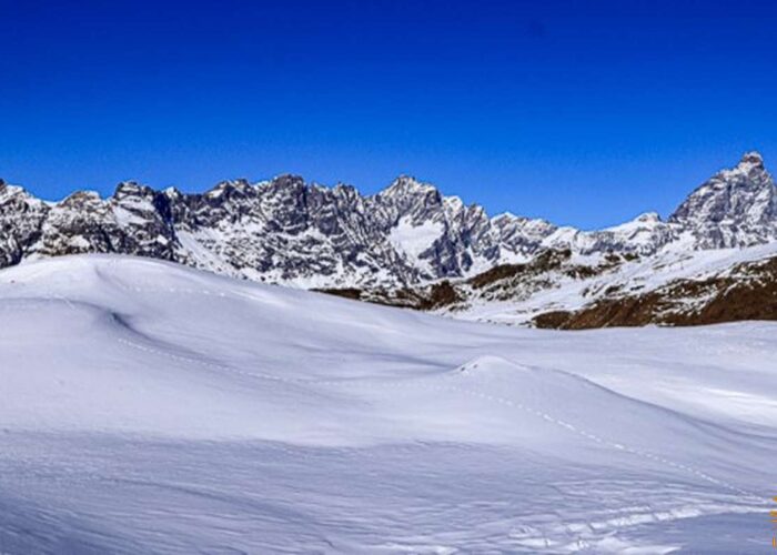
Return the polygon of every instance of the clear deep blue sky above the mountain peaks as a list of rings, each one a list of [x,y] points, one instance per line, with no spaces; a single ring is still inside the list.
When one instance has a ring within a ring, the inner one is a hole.
[[[395,175],[584,228],[777,171],[777,2],[0,0],[0,176]]]

